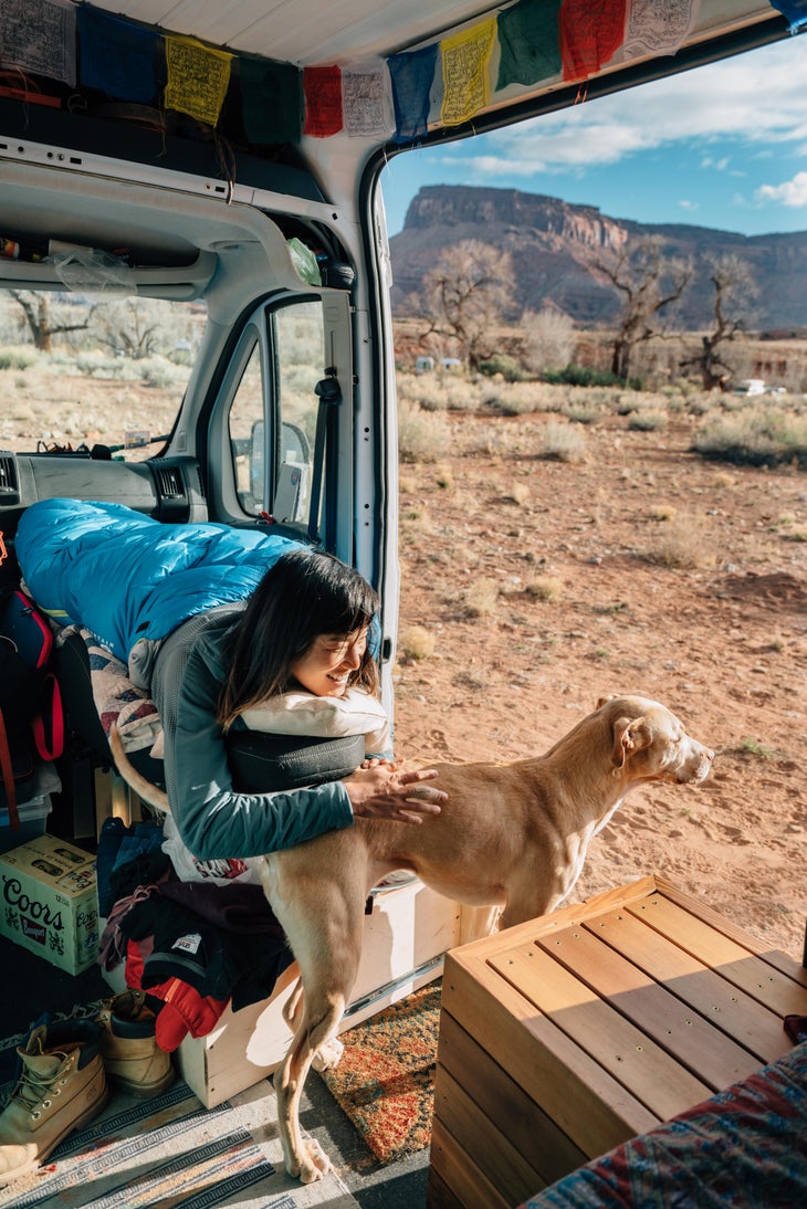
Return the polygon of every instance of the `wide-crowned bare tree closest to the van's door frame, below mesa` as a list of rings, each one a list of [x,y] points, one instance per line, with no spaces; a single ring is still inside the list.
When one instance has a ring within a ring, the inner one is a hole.
[[[463,239],[443,253],[423,279],[430,322],[423,339],[450,340],[469,369],[497,352],[495,328],[513,297],[509,253]]]

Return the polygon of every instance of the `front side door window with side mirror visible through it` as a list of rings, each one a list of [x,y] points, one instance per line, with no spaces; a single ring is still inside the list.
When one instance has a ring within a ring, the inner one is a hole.
[[[265,329],[253,328],[254,343],[230,407],[236,493],[250,516],[267,513],[279,522],[309,523],[316,388],[325,369],[322,302],[267,310],[266,319]],[[266,359],[261,329],[272,349]],[[270,364],[271,371],[265,369]]]

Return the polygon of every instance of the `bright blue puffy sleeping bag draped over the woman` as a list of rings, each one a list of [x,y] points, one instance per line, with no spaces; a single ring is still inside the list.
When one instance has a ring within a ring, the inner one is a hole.
[[[123,663],[142,640],[252,595],[301,542],[229,525],[162,525],[122,504],[44,499],[15,538],[25,585],[59,625],[80,624]]]

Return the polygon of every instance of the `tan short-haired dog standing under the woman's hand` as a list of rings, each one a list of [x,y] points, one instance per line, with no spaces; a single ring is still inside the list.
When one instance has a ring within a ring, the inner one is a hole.
[[[275,1072],[289,1175],[310,1182],[332,1169],[318,1144],[301,1135],[300,1095],[317,1052],[327,1064],[348,1002],[371,886],[394,869],[411,869],[453,901],[502,908],[501,927],[535,919],[571,892],[592,837],[630,789],[650,781],[702,781],[713,758],[657,701],[605,698],[537,758],[430,764],[449,800],[420,827],[357,818],[353,827],[269,854],[264,889],[299,962],[304,991],[298,988],[289,1001],[287,1018],[296,1032]],[[129,780],[120,760],[119,769]]]

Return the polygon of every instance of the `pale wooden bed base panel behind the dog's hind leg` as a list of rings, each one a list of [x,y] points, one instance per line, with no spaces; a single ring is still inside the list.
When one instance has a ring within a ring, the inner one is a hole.
[[[364,920],[364,947],[351,1005],[341,1030],[437,978],[446,949],[482,935],[486,913],[468,912],[415,881],[374,897]],[[232,1012],[227,1008],[204,1037],[186,1037],[177,1051],[185,1082],[214,1107],[270,1075],[292,1042],[282,1006],[275,1000]]]

